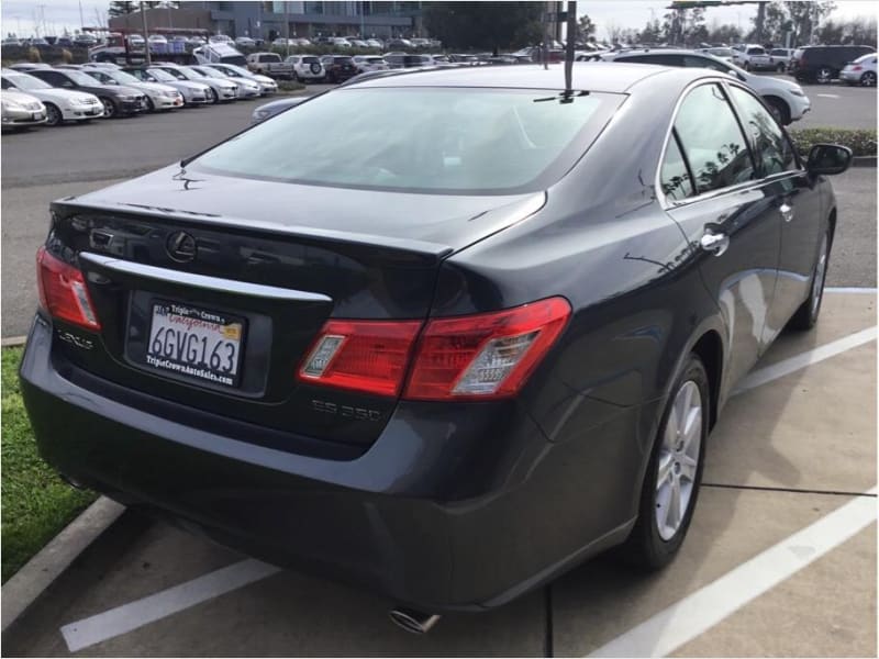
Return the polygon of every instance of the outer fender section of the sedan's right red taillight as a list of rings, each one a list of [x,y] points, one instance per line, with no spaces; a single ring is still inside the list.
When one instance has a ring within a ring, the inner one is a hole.
[[[516,393],[565,328],[570,305],[549,298],[427,323],[403,398],[487,400]]]

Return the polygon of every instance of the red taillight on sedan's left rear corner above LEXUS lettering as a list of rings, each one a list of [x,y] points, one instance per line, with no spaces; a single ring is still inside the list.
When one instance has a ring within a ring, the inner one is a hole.
[[[52,256],[45,247],[36,253],[40,304],[49,315],[87,330],[100,330],[82,272]]]

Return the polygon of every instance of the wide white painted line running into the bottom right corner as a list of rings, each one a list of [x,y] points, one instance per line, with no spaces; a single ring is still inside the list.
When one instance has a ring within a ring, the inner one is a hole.
[[[874,494],[876,488],[867,492]],[[876,520],[858,496],[594,650],[590,657],[666,657],[821,558]]]

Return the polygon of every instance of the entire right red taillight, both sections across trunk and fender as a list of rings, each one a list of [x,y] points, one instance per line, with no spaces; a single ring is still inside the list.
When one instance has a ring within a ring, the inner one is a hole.
[[[564,298],[424,326],[403,398],[490,400],[516,393],[570,316]],[[298,370],[299,380],[399,395],[420,321],[327,321]]]

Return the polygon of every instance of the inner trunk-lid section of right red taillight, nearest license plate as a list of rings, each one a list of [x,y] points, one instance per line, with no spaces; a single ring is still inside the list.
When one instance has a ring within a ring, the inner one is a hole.
[[[421,321],[329,321],[299,379],[379,395],[398,395]]]

